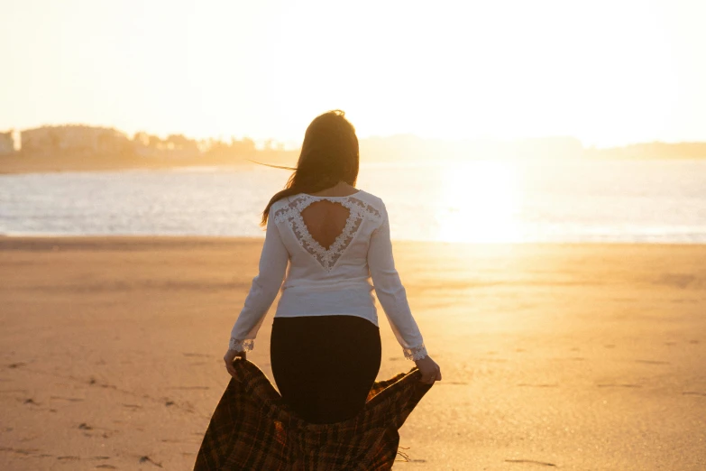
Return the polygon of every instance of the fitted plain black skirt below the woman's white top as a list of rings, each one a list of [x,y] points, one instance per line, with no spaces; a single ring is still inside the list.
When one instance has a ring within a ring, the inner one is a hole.
[[[362,411],[380,371],[380,329],[357,316],[275,318],[272,375],[282,400],[309,423]]]

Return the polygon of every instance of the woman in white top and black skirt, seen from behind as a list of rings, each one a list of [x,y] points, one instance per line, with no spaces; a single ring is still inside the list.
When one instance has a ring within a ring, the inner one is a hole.
[[[262,212],[267,233],[260,272],[224,356],[237,379],[234,358],[252,350],[281,289],[270,342],[272,374],[282,400],[315,424],[352,418],[371,392],[381,365],[373,289],[420,381],[441,380],[395,269],[385,205],[354,188],[358,166],[358,139],[344,112],[317,116],[286,189]]]

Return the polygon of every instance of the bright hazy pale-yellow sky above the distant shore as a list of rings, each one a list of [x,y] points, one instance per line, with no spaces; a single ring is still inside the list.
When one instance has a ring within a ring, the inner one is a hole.
[[[706,1],[0,0],[0,129],[706,141]]]

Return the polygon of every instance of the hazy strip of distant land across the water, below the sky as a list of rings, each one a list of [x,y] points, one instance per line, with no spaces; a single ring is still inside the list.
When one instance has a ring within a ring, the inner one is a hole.
[[[182,134],[159,136],[136,133],[132,137],[113,129],[89,125],[41,126],[20,132],[15,145],[12,132],[0,133],[0,174],[57,171],[160,170],[189,167],[252,166],[250,159],[294,167],[300,149],[268,141],[263,147],[252,139],[194,140]],[[566,162],[607,160],[706,159],[706,143],[633,143],[619,147],[586,147],[566,135],[513,140],[429,139],[414,134],[369,137],[360,141],[362,162]]]

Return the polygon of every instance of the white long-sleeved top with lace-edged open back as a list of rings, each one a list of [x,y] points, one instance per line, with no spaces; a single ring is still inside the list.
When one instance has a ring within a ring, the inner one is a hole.
[[[301,216],[321,199],[348,209],[343,232],[327,249],[309,234]],[[229,347],[252,350],[262,319],[280,290],[275,317],[359,316],[377,326],[373,289],[405,357],[424,358],[424,341],[395,269],[390,221],[382,200],[363,190],[344,197],[299,193],[280,199],[270,207],[260,272],[235,321]]]

